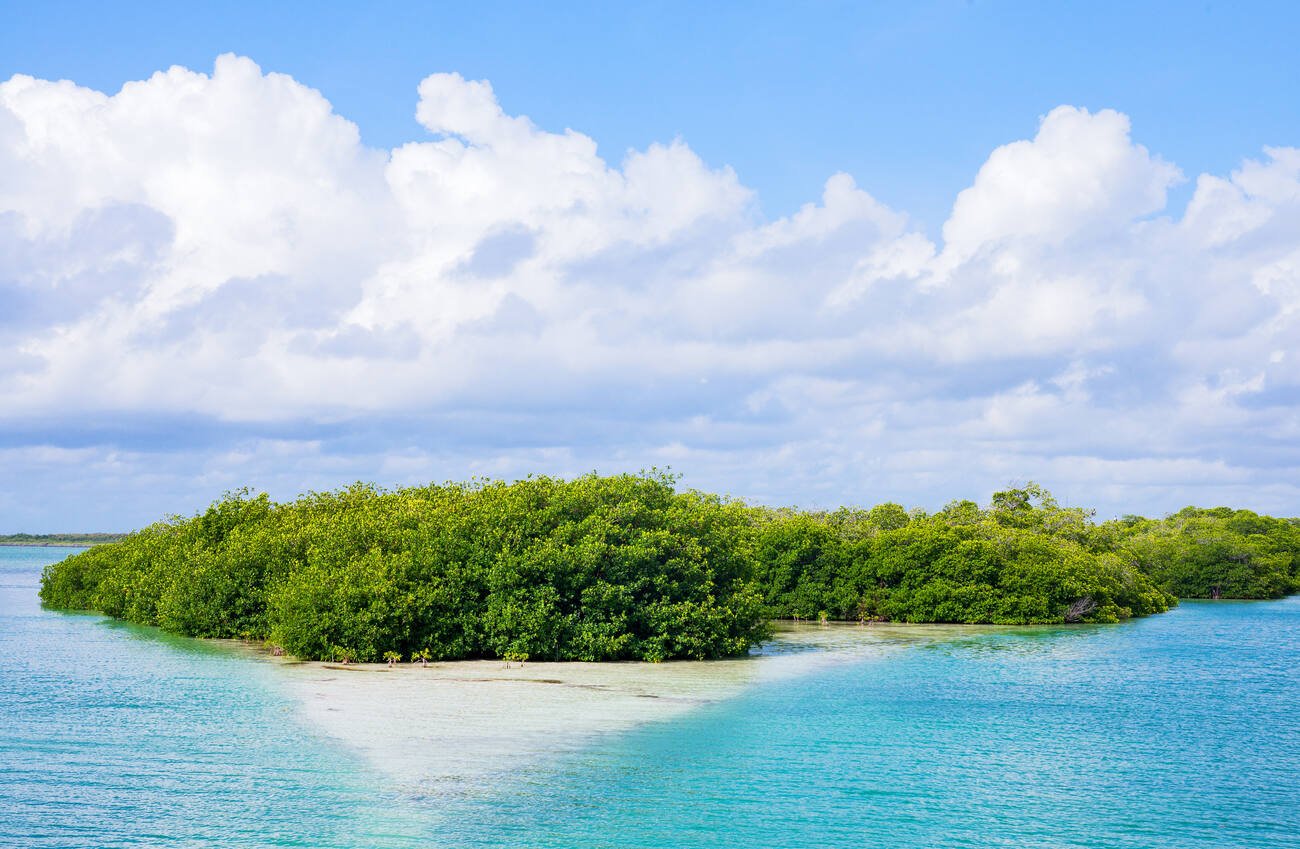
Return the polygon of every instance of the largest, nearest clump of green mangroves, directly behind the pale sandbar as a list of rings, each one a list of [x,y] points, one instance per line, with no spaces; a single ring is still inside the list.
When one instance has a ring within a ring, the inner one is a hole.
[[[230,495],[47,569],[46,603],[304,658],[716,658],[764,633],[749,512],[663,476]]]

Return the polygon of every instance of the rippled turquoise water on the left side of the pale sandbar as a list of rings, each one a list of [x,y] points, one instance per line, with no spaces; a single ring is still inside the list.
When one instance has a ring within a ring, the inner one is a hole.
[[[0,846],[426,846],[295,724],[274,667],[40,610],[68,549],[0,547]]]

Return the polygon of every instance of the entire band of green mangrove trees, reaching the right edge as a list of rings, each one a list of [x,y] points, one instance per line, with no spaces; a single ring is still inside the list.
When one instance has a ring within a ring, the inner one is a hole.
[[[40,598],[306,659],[666,660],[744,654],[774,619],[1113,623],[1300,589],[1300,520],[1245,510],[1096,523],[1028,484],[810,512],[676,482],[239,491],[49,566]]]

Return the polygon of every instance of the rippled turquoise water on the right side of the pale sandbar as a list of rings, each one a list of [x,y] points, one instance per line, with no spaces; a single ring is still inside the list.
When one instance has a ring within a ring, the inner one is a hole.
[[[911,636],[906,651],[757,688],[575,757],[460,837],[1297,846],[1297,627],[1300,598],[1190,602],[1118,627]]]

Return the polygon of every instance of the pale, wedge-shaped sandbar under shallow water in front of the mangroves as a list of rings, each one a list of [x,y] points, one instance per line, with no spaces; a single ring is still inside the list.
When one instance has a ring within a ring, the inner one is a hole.
[[[281,671],[303,720],[402,792],[472,794],[490,784],[484,779],[536,768],[602,736],[935,636],[916,627],[788,625],[760,654],[729,660],[395,668],[283,662]]]

